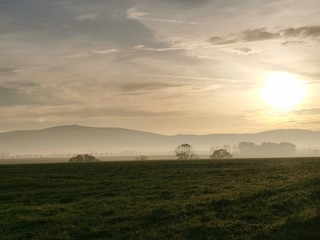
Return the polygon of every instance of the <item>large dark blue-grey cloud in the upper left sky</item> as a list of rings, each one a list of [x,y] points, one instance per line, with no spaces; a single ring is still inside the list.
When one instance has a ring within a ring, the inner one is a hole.
[[[79,41],[102,42],[112,48],[157,46],[153,30],[124,14],[115,15],[117,9],[125,11],[122,3],[101,5],[89,8],[87,1],[79,4],[70,1],[65,5],[38,1],[24,7],[8,6],[1,11],[0,32],[37,48],[50,45],[52,49],[72,41],[77,45],[75,48],[81,47]],[[92,12],[86,13],[88,9]]]

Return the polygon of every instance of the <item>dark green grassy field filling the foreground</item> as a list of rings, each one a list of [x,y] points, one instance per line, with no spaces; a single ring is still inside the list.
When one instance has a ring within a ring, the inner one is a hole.
[[[320,239],[320,159],[0,165],[0,239]]]

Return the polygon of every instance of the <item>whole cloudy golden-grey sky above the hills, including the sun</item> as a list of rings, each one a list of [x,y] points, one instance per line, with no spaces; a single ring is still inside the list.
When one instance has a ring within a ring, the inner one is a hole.
[[[320,130],[319,0],[0,0],[0,131]]]

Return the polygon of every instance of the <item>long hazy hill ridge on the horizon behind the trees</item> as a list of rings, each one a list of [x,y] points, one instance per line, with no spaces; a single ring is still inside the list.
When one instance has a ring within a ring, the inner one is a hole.
[[[174,135],[136,131],[122,128],[99,128],[77,125],[58,126],[42,130],[0,133],[0,152],[12,154],[52,154],[173,151],[181,143],[207,151],[211,146],[234,145],[242,141],[291,142],[297,148],[320,149],[320,132],[289,129],[253,134]]]

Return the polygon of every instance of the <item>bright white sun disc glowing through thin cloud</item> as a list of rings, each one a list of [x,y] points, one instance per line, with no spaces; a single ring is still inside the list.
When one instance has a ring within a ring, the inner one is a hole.
[[[290,73],[273,72],[265,80],[260,96],[269,106],[289,110],[302,102],[306,95],[303,81]]]

